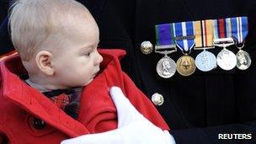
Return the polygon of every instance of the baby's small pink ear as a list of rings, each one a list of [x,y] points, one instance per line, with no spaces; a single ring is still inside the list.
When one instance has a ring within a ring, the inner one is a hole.
[[[41,72],[46,75],[53,75],[54,69],[52,67],[52,54],[49,51],[39,51],[35,56],[35,61],[37,67],[39,67]]]

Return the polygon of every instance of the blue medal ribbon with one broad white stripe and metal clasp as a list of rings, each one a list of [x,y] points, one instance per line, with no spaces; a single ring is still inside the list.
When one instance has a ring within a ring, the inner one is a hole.
[[[174,39],[181,51],[188,52],[195,45],[193,22],[174,23]]]

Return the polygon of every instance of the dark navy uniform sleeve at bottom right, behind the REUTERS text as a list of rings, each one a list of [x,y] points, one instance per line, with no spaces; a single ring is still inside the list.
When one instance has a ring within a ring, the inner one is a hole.
[[[170,131],[177,144],[222,143],[240,144],[253,143],[256,136],[256,122],[248,121],[243,124],[220,125],[215,127],[194,128]],[[221,139],[221,136],[226,136]],[[232,137],[228,140],[227,137]],[[237,137],[237,138],[235,138]],[[242,139],[243,137],[243,139]]]

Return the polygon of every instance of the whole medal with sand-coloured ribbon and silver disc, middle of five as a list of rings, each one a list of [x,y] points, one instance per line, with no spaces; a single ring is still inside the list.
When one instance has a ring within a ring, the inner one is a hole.
[[[213,46],[213,20],[199,20],[194,22],[195,50],[204,50],[195,57],[195,66],[202,72],[209,72],[216,67],[216,56],[208,49]]]

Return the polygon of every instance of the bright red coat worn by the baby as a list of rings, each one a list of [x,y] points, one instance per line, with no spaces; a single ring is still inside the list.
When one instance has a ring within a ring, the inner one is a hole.
[[[83,89],[77,120],[20,80],[17,75],[26,71],[19,56],[1,61],[0,141],[6,136],[10,143],[51,144],[69,137],[115,129],[116,109],[108,92],[112,86],[120,87],[148,120],[168,130],[168,125],[151,101],[121,71],[119,59],[125,56],[125,51],[101,50],[100,53],[104,57],[101,64],[103,72]],[[35,117],[45,121],[45,127],[35,129]]]

